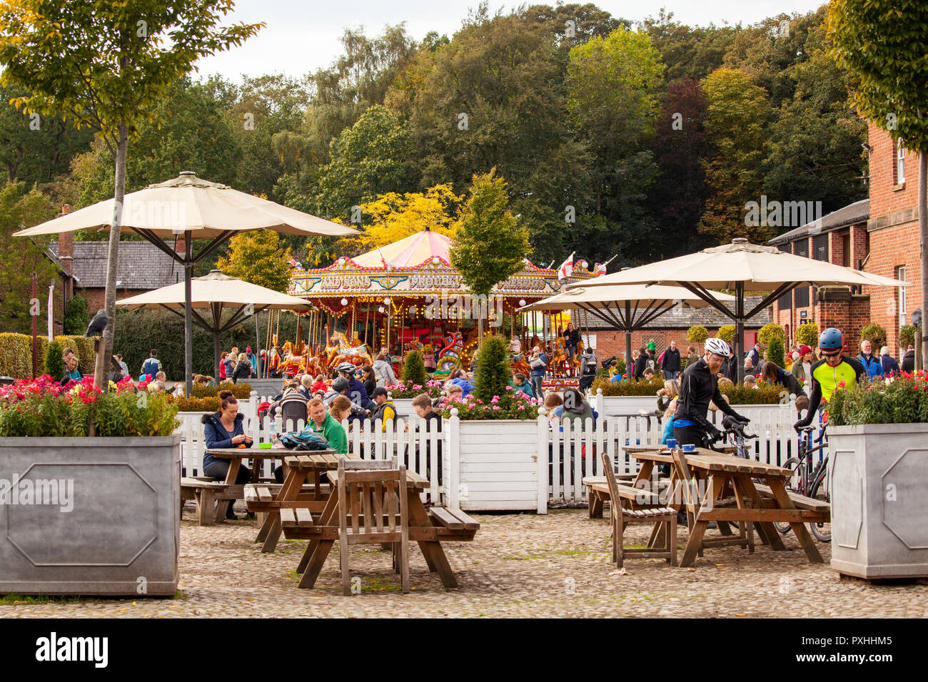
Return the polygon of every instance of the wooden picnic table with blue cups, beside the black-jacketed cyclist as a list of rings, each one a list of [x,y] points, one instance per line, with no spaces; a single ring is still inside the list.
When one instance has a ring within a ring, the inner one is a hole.
[[[642,462],[635,486],[647,487],[655,463],[671,464],[671,490],[675,496],[677,489],[686,494],[685,503],[676,499],[668,501],[669,506],[677,509],[685,504],[690,514],[690,539],[681,566],[691,566],[696,555],[702,554],[703,547],[739,545],[753,552],[755,527],[764,544],[775,550],[785,549],[774,521],[789,522],[808,560],[822,562],[805,524],[827,521],[829,509],[826,503],[817,504],[786,490],[785,483],[793,477],[792,470],[705,448],[696,448],[692,453],[677,449],[670,454],[651,451],[632,452],[631,455]],[[755,485],[754,479],[766,485]],[[701,482],[702,492],[693,493],[690,482]],[[803,508],[797,508],[795,502]],[[704,538],[709,521],[717,523],[721,538]],[[737,523],[739,534],[733,534],[728,523]]]

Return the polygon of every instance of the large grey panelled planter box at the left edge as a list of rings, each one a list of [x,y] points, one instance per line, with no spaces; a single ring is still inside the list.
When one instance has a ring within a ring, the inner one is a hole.
[[[0,501],[0,593],[174,596],[180,434],[0,438]]]

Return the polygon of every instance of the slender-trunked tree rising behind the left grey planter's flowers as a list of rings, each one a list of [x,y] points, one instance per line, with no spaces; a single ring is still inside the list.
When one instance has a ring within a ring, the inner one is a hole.
[[[116,320],[116,268],[130,137],[206,55],[240,45],[264,24],[216,28],[231,0],[7,0],[0,5],[0,83],[29,95],[13,104],[95,128],[115,158],[105,309],[109,322],[94,380],[105,385]]]

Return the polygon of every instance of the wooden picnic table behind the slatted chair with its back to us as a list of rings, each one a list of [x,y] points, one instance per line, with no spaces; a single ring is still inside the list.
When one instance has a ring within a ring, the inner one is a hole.
[[[328,476],[334,490],[338,484],[338,470],[329,470]],[[457,509],[432,508],[431,513],[426,511],[419,494],[428,489],[428,479],[415,471],[406,470],[409,540],[419,543],[429,570],[438,573],[445,588],[457,587],[458,579],[451,570],[441,543],[473,540],[480,524]],[[329,495],[325,508],[315,520],[301,520],[289,509],[281,509],[281,519],[284,535],[288,539],[309,540],[296,572],[303,573],[300,587],[312,587],[316,585],[333,543],[339,538],[339,495]]]

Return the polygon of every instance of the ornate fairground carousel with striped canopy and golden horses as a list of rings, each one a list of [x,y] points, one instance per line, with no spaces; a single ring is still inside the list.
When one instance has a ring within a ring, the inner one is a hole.
[[[291,263],[288,292],[312,302],[314,310],[305,314],[297,341],[277,346],[275,340],[270,367],[285,376],[316,373],[346,361],[370,364],[380,349],[387,349],[394,361],[419,350],[427,369],[434,367],[438,377],[469,367],[480,315],[450,264],[450,246],[451,238],[425,229],[353,258],[339,258],[328,267],[306,270]],[[483,309],[484,331],[512,339],[517,371],[528,373],[522,349],[550,339],[555,374],[575,374],[566,349],[559,351],[562,340],[556,329],[564,324],[563,317],[518,309],[558,293],[569,282],[592,277],[585,265],[574,267],[572,277],[559,279],[556,270],[525,259],[520,272],[494,288]]]

